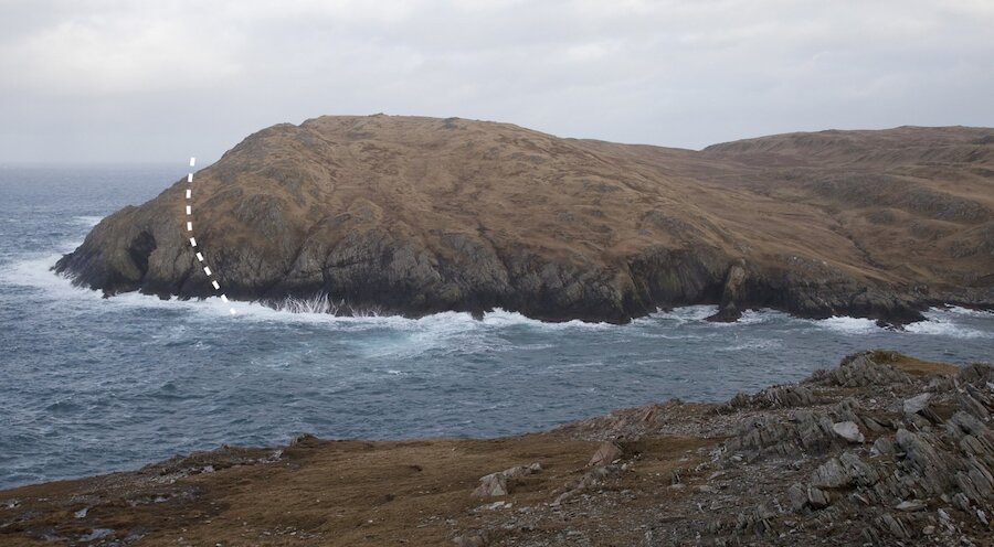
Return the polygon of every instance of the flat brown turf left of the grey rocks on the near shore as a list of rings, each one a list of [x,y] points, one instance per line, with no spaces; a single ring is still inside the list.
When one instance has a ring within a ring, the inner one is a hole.
[[[710,443],[647,439],[652,457],[628,481],[668,481],[686,451]],[[0,544],[448,545],[455,530],[474,524],[475,508],[490,503],[470,495],[480,476],[539,463],[541,472],[517,481],[501,500],[549,502],[585,471],[596,448],[553,432],[404,442],[304,438],[278,459],[271,450],[221,449],[138,472],[0,492]]]

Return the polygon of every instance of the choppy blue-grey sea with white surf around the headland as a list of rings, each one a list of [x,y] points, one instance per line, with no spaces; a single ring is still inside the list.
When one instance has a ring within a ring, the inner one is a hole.
[[[103,299],[50,271],[103,216],[187,167],[0,167],[0,487],[131,469],[221,443],[499,436],[611,409],[721,400],[844,355],[895,348],[990,362],[994,314],[933,310],[906,332],[870,321],[709,307],[628,325],[332,318],[218,300]],[[182,222],[182,218],[177,218]]]

